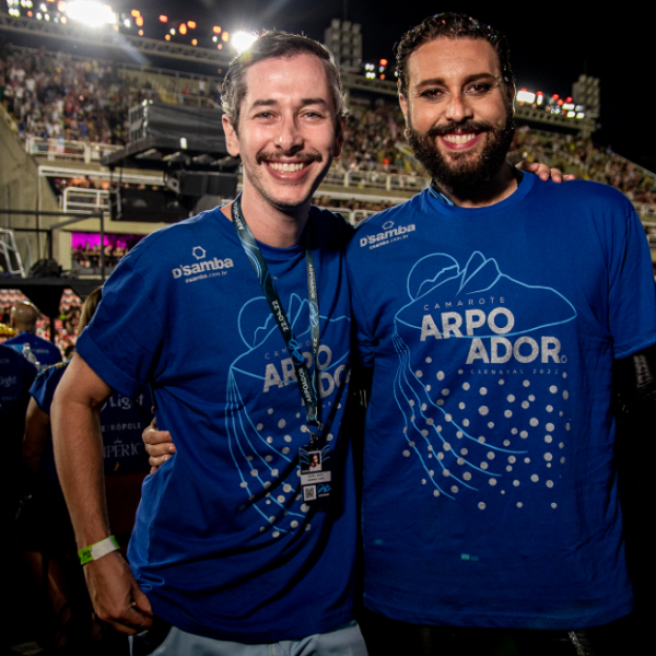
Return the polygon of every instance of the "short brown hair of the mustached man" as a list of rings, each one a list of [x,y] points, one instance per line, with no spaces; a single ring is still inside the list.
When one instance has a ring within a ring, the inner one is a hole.
[[[341,134],[342,121],[347,116],[348,109],[342,93],[339,70],[335,63],[335,58],[330,50],[319,42],[302,36],[300,34],[289,34],[288,32],[272,31],[265,32],[258,36],[256,42],[241,55],[237,55],[231,62],[221,93],[221,106],[229,116],[235,132],[238,132],[239,109],[242,101],[246,95],[246,70],[248,67],[277,57],[294,57],[295,55],[315,55],[321,60],[328,79],[328,86],[335,104],[335,122],[337,134]]]

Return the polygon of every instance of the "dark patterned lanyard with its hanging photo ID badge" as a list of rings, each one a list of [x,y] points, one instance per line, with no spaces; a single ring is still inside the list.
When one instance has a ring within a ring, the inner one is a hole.
[[[242,195],[237,196],[232,204],[232,219],[242,247],[246,253],[255,272],[258,277],[260,286],[271,314],[278,325],[280,333],[292,356],[292,363],[296,372],[298,389],[306,411],[306,421],[312,435],[311,443],[298,449],[298,466],[301,468],[301,485],[303,489],[303,500],[305,502],[326,499],[330,495],[331,471],[330,471],[330,447],[321,445],[323,426],[319,422],[319,405],[317,400],[318,389],[318,353],[320,342],[319,327],[319,298],[317,291],[317,276],[314,265],[314,257],[307,244],[305,246],[305,266],[307,271],[307,304],[309,308],[309,328],[312,335],[312,362],[314,364],[313,374],[309,373],[305,364],[305,358],[301,344],[294,337],[292,325],[288,319],[286,313],[280,301],[278,290],[273,283],[273,278],[269,267],[261,254],[246,220],[242,212]]]

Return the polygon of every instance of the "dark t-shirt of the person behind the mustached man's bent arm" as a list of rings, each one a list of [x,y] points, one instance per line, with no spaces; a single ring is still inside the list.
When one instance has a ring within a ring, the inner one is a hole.
[[[50,414],[52,397],[67,365],[60,363],[43,371],[30,388],[30,394],[46,414]],[[118,391],[107,399],[101,410],[105,476],[145,473],[150,470],[141,434],[151,417],[148,387],[134,400]],[[40,475],[51,481],[58,480],[51,442],[42,459]]]

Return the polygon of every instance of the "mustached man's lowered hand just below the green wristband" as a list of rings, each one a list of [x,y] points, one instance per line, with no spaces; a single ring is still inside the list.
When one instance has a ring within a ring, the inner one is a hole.
[[[150,629],[150,601],[118,551],[86,563],[84,576],[98,619],[128,635]]]

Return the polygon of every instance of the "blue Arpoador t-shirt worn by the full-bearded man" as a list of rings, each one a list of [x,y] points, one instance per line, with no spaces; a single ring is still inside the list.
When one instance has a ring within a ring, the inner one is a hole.
[[[365,604],[458,626],[629,612],[612,364],[656,342],[629,201],[534,175],[482,209],[429,189],[364,222],[347,262],[374,366]]]

